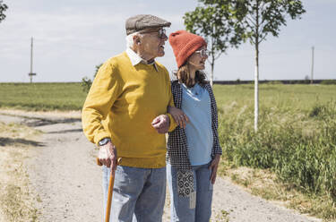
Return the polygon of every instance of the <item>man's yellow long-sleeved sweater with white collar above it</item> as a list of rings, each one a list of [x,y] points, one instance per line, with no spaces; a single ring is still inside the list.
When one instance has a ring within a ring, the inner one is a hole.
[[[108,59],[95,80],[84,107],[82,128],[96,144],[111,138],[122,166],[166,166],[166,138],[152,120],[174,106],[167,69],[159,63],[132,65],[124,52]],[[171,117],[169,131],[177,124]]]

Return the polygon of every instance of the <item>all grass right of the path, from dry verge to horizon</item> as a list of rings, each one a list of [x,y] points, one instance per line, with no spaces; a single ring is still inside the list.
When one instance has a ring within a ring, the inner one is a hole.
[[[269,87],[278,90],[266,93]],[[236,93],[215,88],[224,163],[220,174],[264,199],[335,221],[336,88],[290,86],[296,91],[291,94],[287,87],[261,86],[258,132],[253,96],[246,99],[248,86],[232,86]]]

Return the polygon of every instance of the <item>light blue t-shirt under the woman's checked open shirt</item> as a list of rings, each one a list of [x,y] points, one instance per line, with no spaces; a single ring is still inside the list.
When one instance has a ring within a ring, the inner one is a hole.
[[[182,110],[189,118],[185,126],[188,153],[192,166],[211,161],[213,135],[211,129],[211,100],[208,90],[195,84],[187,88],[182,84]]]

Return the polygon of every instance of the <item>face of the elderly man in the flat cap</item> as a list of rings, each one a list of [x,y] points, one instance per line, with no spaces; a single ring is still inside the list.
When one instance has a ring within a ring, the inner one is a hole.
[[[148,61],[165,55],[164,45],[168,37],[161,30],[161,28],[156,28],[141,31],[142,38],[140,39],[139,49]]]

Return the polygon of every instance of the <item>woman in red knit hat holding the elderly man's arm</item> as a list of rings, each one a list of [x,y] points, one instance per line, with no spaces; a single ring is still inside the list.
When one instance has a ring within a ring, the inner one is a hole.
[[[178,70],[177,81],[171,83],[176,107],[168,107],[168,112],[180,124],[168,136],[171,221],[208,222],[221,148],[216,101],[202,72],[208,58],[207,44],[185,30],[171,33],[169,43]]]

